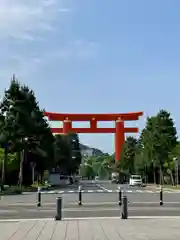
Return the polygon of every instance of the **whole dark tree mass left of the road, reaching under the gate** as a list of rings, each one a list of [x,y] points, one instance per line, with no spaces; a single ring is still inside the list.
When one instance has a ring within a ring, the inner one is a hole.
[[[35,93],[15,77],[0,103],[0,146],[3,184],[30,184],[32,166],[42,181],[45,170],[73,174],[81,162],[77,134],[53,136]]]

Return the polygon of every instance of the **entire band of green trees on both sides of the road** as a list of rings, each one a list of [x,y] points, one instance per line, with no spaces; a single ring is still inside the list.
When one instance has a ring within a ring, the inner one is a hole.
[[[141,174],[150,182],[174,183],[180,161],[180,142],[171,114],[162,109],[148,117],[138,138],[127,137],[121,160],[102,153],[81,161],[81,144],[76,133],[53,135],[35,93],[15,79],[0,102],[0,175],[2,183],[32,184],[32,169],[42,181],[47,170],[62,174],[99,176],[112,172]],[[82,163],[81,163],[82,162]],[[176,176],[179,177],[179,176]]]

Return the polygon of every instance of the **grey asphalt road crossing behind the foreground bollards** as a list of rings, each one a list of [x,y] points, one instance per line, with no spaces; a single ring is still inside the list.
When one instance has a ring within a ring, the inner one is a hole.
[[[37,194],[4,196],[0,200],[0,219],[33,219],[53,218],[56,215],[56,197],[62,196],[63,217],[118,217],[121,207],[118,203],[116,184],[108,182],[81,183],[82,206],[78,206],[78,186],[69,186],[63,190],[64,194],[42,194],[42,206],[37,207]],[[145,188],[129,188],[121,186],[127,196],[129,216],[180,216],[180,193],[164,193],[164,205],[159,205],[158,191],[147,191]],[[76,192],[71,192],[71,191]],[[103,192],[94,192],[102,190]],[[112,192],[108,192],[108,191]],[[69,193],[70,191],[70,193]],[[67,192],[67,194],[66,194]]]

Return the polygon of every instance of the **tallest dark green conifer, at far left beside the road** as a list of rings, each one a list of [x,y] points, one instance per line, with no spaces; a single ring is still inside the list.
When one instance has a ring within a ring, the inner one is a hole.
[[[53,154],[54,138],[34,92],[27,86],[21,86],[15,78],[5,91],[0,108],[1,115],[5,118],[1,131],[4,138],[1,142],[5,145],[11,143],[13,151],[17,152],[20,159],[19,182],[22,185],[24,165],[35,162],[39,173],[47,168],[48,159]],[[33,160],[28,159],[30,153],[36,155]]]

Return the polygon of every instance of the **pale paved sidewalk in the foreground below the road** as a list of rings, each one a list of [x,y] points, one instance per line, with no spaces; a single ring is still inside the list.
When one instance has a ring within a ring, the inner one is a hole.
[[[0,221],[1,240],[179,240],[178,219]]]

